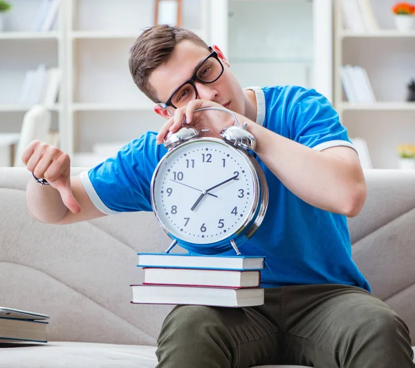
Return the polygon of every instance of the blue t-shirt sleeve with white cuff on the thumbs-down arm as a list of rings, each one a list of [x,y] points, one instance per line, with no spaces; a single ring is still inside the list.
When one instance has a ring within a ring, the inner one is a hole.
[[[151,211],[151,177],[166,150],[147,132],[122,147],[116,156],[80,175],[96,208],[105,214]]]

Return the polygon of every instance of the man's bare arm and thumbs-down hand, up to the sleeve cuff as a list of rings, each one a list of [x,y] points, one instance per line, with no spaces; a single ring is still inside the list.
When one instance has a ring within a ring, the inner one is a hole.
[[[33,141],[22,156],[23,162],[37,178],[26,190],[30,214],[45,223],[67,224],[105,216],[89,199],[79,176],[71,177],[71,160],[67,154],[43,142]]]

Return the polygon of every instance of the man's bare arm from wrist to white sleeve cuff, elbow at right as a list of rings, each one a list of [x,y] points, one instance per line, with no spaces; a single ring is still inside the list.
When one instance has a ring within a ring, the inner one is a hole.
[[[356,151],[342,146],[317,151],[254,122],[248,131],[257,139],[259,158],[300,199],[347,217],[360,212],[366,183]]]

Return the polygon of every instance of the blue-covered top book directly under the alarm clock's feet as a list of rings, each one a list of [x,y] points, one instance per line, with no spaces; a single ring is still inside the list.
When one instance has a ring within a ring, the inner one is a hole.
[[[138,267],[210,268],[225,270],[261,270],[264,257],[230,255],[190,255],[187,253],[137,253]]]

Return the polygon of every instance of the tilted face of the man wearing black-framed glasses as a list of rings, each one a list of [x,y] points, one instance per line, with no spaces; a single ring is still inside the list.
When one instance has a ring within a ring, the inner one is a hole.
[[[223,73],[213,83],[203,84],[196,80],[194,84],[198,98],[216,102],[244,115],[245,102],[241,86],[230,72],[229,63],[221,51],[215,50],[223,64]],[[156,90],[160,102],[167,101],[179,86],[189,80],[210,52],[210,50],[190,41],[177,44],[167,64],[157,68],[149,77],[149,83]]]

